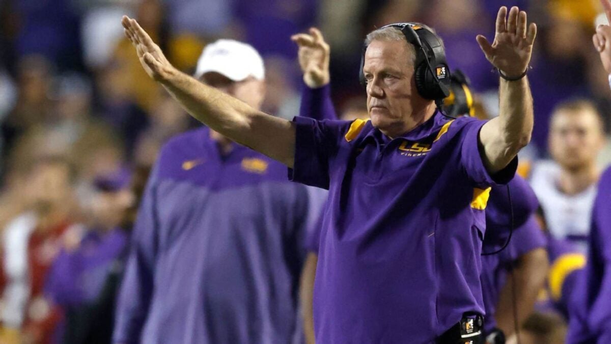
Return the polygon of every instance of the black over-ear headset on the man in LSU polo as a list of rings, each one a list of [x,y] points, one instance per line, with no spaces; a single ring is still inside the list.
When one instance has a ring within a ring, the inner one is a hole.
[[[389,24],[380,29],[384,28],[400,29],[408,43],[414,45],[416,50],[414,78],[420,96],[441,102],[450,95],[450,69],[445,61],[445,50],[441,39],[428,26],[419,23]],[[363,73],[366,50],[367,45],[364,45],[359,70],[359,80],[363,86],[367,85]]]

